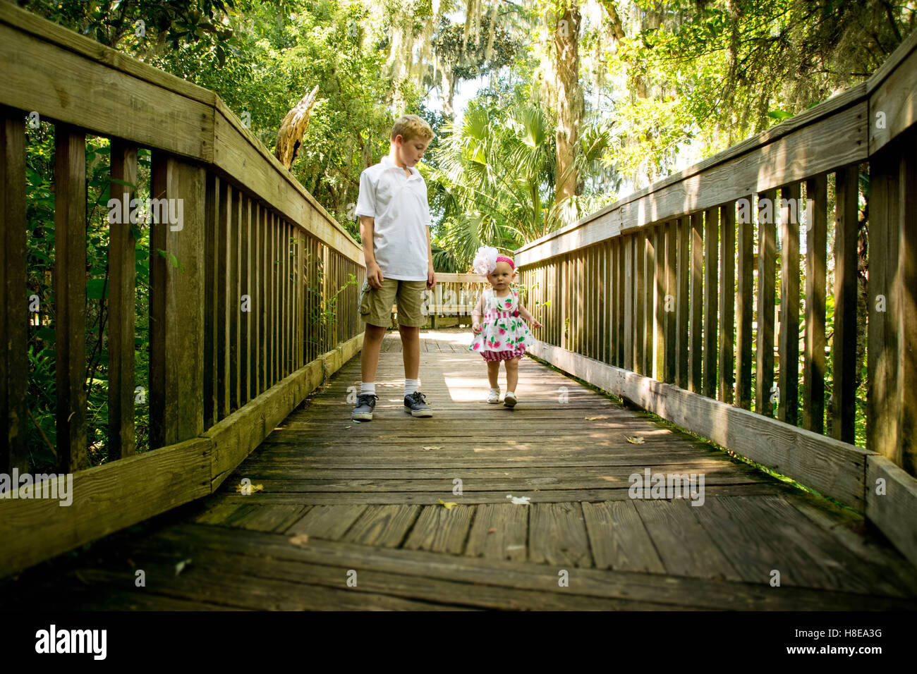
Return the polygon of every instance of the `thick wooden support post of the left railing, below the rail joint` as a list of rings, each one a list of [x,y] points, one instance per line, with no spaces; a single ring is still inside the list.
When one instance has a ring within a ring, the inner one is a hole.
[[[181,263],[150,256],[150,447],[172,445],[204,432],[204,169],[154,151],[154,199],[160,214],[180,208],[178,224],[161,218],[150,246]],[[238,295],[233,298],[238,311]]]

